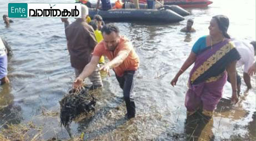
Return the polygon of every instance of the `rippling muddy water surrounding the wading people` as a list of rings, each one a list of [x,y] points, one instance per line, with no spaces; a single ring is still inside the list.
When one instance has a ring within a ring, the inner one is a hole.
[[[0,1],[0,15],[7,13],[8,3]],[[35,2],[24,0],[24,3]],[[42,0],[40,2],[73,2],[72,0]],[[71,124],[71,132],[82,131],[87,140],[185,140],[184,123],[186,82],[189,71],[178,80],[175,88],[170,81],[185,61],[193,43],[209,33],[212,16],[224,14],[230,18],[229,33],[243,41],[255,40],[255,1],[214,0],[208,8],[192,8],[186,19],[194,19],[196,33],[184,34],[179,30],[186,21],[167,25],[148,23],[116,23],[121,34],[127,36],[138,53],[141,66],[136,78],[135,102],[137,117],[124,119],[125,105],[122,90],[112,72],[104,77],[104,88],[98,95],[97,110],[92,118]],[[13,48],[9,61],[10,85],[1,86],[0,123],[26,123],[32,120],[43,126],[42,139],[58,136],[68,139],[65,129],[59,127],[58,116],[43,115],[42,111],[59,111],[63,95],[71,88],[74,70],[70,66],[64,25],[60,19],[14,19],[6,29],[0,23],[0,36]],[[74,21],[71,19],[71,21]],[[191,68],[189,68],[190,70]],[[242,68],[238,68],[242,76]],[[88,81],[87,81],[88,82]],[[230,104],[231,86],[226,84],[223,99],[218,104],[213,121],[198,126],[190,134],[209,140],[226,140],[237,136],[255,137],[255,76],[253,89],[246,92],[242,81],[242,96],[236,105]],[[199,128],[200,127],[200,128]],[[212,137],[212,136],[211,136]],[[188,138],[193,139],[192,136]]]

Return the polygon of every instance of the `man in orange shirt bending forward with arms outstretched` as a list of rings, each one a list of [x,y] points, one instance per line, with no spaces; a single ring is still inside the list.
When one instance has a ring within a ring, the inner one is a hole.
[[[135,103],[132,90],[136,71],[139,67],[139,57],[134,51],[131,42],[124,36],[119,35],[117,26],[108,24],[103,26],[101,31],[104,39],[94,48],[92,59],[75,79],[73,87],[76,89],[81,88],[82,80],[93,72],[100,56],[106,56],[110,62],[104,64],[100,70],[104,70],[110,75],[110,69],[113,68],[117,81],[124,92],[127,118],[134,118]]]

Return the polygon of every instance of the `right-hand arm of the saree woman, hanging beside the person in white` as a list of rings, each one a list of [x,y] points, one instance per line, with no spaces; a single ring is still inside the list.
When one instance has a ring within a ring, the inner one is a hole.
[[[236,64],[237,61],[231,62],[226,70],[228,72],[228,77],[230,79],[231,87],[232,87],[232,97],[231,102],[237,103],[238,102],[238,94],[237,94],[237,73],[236,73]]]

